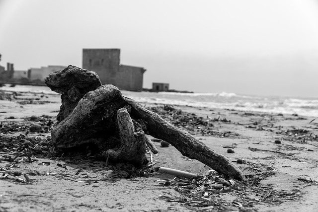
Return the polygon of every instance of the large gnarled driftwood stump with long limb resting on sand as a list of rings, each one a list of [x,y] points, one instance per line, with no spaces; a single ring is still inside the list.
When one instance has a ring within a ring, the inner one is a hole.
[[[69,78],[63,77],[63,72],[67,72],[68,69],[88,72],[71,66],[59,72],[58,76],[55,76],[54,72],[46,79],[46,83],[56,91],[63,90],[64,98],[69,98],[69,91],[59,86],[74,87],[72,81],[67,83]],[[57,81],[63,83],[58,84]],[[79,88],[77,90],[81,91]],[[224,155],[210,149],[188,132],[172,126],[136,101],[122,96],[117,87],[102,85],[84,95],[79,93],[79,96],[82,98],[74,110],[70,114],[64,113],[64,119],[51,132],[51,141],[57,147],[89,144],[99,149],[104,159],[124,160],[141,165],[148,162],[145,157],[146,133],[169,142],[184,156],[197,159],[227,177],[244,179],[241,170]]]

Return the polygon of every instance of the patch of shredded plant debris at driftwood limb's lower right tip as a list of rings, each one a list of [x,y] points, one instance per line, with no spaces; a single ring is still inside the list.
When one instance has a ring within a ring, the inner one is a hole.
[[[305,194],[296,189],[277,191],[273,185],[262,185],[260,182],[274,175],[275,169],[261,163],[247,162],[246,164],[248,166],[242,170],[247,176],[246,182],[225,179],[214,170],[209,170],[196,179],[169,180],[169,186],[174,187],[180,196],[161,195],[159,199],[193,207],[192,211],[250,211],[253,205],[271,204],[273,201],[275,204],[292,202]],[[315,185],[310,181],[308,184]],[[165,186],[165,183],[161,183],[161,186]],[[224,193],[233,195],[235,201],[229,204],[221,195]]]

